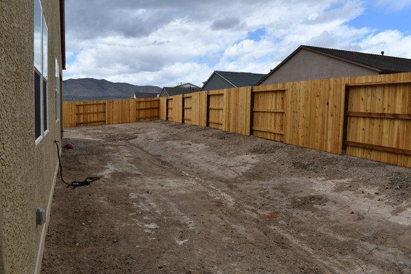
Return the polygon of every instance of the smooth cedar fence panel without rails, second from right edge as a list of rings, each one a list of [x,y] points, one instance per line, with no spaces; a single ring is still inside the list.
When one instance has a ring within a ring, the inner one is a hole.
[[[346,81],[340,77],[286,83],[284,142],[342,153]]]

